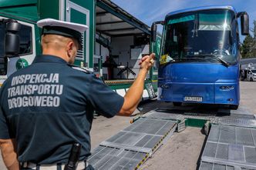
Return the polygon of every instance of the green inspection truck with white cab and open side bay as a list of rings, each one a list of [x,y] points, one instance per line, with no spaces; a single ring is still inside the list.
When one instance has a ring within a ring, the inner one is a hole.
[[[41,29],[36,22],[42,18],[88,25],[89,29],[83,34],[83,50],[77,53],[75,65],[89,68],[113,90],[123,90],[120,95],[125,94],[140,71],[137,65],[140,58],[150,52],[157,53],[160,46],[150,45],[149,26],[109,0],[0,0],[2,18],[16,20],[22,28],[19,55],[8,58],[7,70],[0,75],[0,86],[8,75],[30,65],[35,55],[41,53]],[[151,87],[157,91],[156,81],[157,64],[145,83],[146,98],[154,95],[150,95]],[[150,89],[146,90],[147,87]]]

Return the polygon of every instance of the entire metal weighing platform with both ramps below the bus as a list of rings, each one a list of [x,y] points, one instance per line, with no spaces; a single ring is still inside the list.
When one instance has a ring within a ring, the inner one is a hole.
[[[243,107],[213,112],[157,108],[102,142],[88,162],[95,169],[138,169],[186,126],[202,127],[208,134],[199,170],[256,170],[256,119]]]

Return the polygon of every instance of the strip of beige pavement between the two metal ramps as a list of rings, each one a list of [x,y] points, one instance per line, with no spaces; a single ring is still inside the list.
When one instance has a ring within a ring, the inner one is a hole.
[[[147,160],[142,169],[197,169],[197,160],[205,138],[200,130],[188,127],[183,132],[174,133],[167,144],[162,145]]]

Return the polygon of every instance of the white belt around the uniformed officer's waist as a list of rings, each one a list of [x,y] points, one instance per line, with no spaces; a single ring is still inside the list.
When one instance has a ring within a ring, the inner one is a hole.
[[[65,164],[49,164],[49,165],[36,165],[32,162],[21,162],[21,170],[64,170]],[[87,167],[86,160],[78,162],[76,170],[85,170]]]

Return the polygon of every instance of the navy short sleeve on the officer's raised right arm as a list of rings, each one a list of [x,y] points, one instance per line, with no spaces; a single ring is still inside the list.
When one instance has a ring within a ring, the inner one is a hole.
[[[89,92],[87,95],[89,102],[100,114],[111,118],[120,112],[124,99],[122,96],[113,92],[111,88],[105,85],[102,80],[92,75],[89,81]]]

